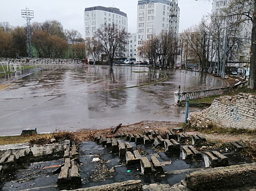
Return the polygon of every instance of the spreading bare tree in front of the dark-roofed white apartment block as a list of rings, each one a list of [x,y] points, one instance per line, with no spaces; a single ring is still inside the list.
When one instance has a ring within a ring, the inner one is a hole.
[[[96,31],[95,38],[97,38],[103,46],[103,52],[106,53],[109,58],[110,66],[113,65],[113,58],[118,53],[126,51],[126,44],[129,38],[129,33],[126,29],[118,29],[115,23],[104,23]]]

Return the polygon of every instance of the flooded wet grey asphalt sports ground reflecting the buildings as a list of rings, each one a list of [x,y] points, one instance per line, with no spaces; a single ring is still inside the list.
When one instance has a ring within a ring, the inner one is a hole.
[[[12,83],[0,91],[1,135],[20,134],[25,128],[45,133],[103,129],[144,120],[184,122],[185,108],[174,105],[179,85],[181,92],[226,86],[224,81],[196,71],[134,66],[38,65],[23,73],[39,68],[42,70],[15,80],[10,76],[0,79]],[[145,85],[162,79],[159,72],[168,79]]]

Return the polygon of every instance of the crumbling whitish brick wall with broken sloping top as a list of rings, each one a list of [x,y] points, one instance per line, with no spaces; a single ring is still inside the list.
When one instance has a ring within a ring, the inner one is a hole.
[[[239,93],[236,96],[215,98],[202,112],[190,114],[191,124],[206,127],[214,124],[223,128],[256,129],[256,96]]]

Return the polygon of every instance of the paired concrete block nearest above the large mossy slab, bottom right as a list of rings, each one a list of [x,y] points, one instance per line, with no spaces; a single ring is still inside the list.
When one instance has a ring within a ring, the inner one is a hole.
[[[203,154],[204,164],[206,167],[219,167],[229,165],[229,159],[218,151],[205,152]]]

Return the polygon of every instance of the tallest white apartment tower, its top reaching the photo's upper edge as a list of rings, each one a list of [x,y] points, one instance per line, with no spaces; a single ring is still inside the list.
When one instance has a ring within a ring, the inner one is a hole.
[[[136,27],[138,46],[162,31],[172,29],[178,34],[179,13],[177,0],[139,0]],[[139,54],[136,59],[141,59]]]

